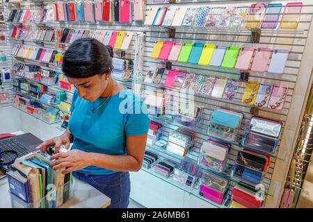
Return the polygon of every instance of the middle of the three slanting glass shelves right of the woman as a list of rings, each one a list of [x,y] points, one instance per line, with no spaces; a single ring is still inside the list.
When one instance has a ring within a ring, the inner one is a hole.
[[[215,172],[215,171],[212,171],[212,170],[208,169],[207,167],[203,167],[202,165],[200,165],[198,163],[198,156],[200,155],[200,153],[198,153],[196,151],[191,151],[185,157],[182,157],[182,156],[176,155],[175,153],[171,153],[169,151],[166,151],[166,146],[164,146],[164,147],[161,147],[161,146],[151,146],[151,145],[148,145],[148,144],[146,146],[150,150],[157,151],[157,154],[162,153],[162,154],[168,155],[170,157],[175,157],[179,161],[184,160],[184,161],[186,161],[188,163],[195,164],[196,166],[200,167],[200,169],[204,169],[204,171],[211,171],[213,173],[218,173],[218,172]],[[246,180],[240,180],[239,178],[234,178],[234,177],[230,176],[230,173],[231,173],[231,170],[232,170],[233,167],[234,167],[233,165],[227,163],[227,166],[225,167],[225,170],[222,173],[220,173],[220,174],[223,174],[224,176],[227,176],[227,178],[230,181],[232,181],[232,182],[239,183],[239,182],[242,181],[242,182],[245,182],[251,188],[255,189],[255,185],[254,184],[252,184],[252,183],[250,183],[250,182],[248,182]],[[268,194],[268,192],[266,192],[266,191],[259,191],[259,192],[261,192],[262,194],[268,195],[268,196],[273,196],[273,194]]]

